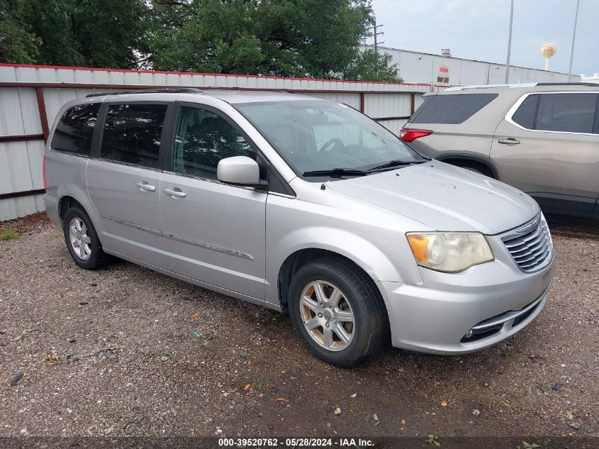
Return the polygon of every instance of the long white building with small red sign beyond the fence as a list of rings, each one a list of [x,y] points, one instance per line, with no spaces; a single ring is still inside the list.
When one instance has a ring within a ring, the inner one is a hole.
[[[362,48],[374,46],[362,45]],[[398,74],[404,82],[430,82],[452,86],[505,83],[505,64],[452,57],[448,49],[442,50],[443,55],[432,55],[379,45],[379,52],[391,55],[391,62],[398,65]],[[580,76],[572,76],[571,82],[580,81]],[[568,74],[510,65],[509,82],[568,82]]]

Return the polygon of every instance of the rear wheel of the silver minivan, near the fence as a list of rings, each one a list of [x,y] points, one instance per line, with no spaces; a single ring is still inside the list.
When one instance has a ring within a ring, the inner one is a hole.
[[[62,221],[65,241],[71,257],[84,270],[105,267],[111,256],[104,253],[94,225],[79,207],[72,207]]]

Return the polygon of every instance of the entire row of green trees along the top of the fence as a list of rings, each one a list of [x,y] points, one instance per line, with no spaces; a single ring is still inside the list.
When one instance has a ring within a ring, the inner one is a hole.
[[[0,0],[0,61],[398,81],[371,0]]]

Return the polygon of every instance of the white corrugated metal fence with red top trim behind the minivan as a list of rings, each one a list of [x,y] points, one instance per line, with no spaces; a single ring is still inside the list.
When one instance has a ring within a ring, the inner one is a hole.
[[[435,87],[227,74],[0,64],[0,221],[44,210],[42,160],[55,114],[91,92],[156,87],[301,92],[342,101],[394,133]]]

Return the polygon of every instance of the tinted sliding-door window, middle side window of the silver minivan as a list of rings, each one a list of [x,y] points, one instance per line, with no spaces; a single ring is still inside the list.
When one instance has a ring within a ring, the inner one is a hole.
[[[106,111],[101,157],[158,168],[166,104],[111,104]]]

